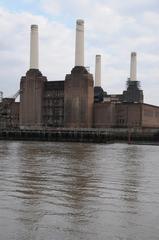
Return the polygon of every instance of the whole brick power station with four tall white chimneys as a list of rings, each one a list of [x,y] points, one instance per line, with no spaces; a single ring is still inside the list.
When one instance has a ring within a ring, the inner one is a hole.
[[[122,94],[101,87],[101,56],[95,83],[84,66],[84,21],[76,22],[75,66],[63,81],[48,81],[39,70],[38,26],[31,25],[30,69],[20,80],[20,102],[2,98],[0,128],[159,127],[159,107],[145,104],[137,81],[137,56],[131,54],[130,78]]]

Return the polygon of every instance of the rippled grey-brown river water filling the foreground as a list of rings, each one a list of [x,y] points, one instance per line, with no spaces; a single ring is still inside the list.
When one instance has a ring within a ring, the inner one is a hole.
[[[81,239],[159,239],[159,147],[0,141],[0,240]]]

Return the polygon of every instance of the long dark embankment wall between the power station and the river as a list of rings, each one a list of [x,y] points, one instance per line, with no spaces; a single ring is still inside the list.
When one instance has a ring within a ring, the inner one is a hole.
[[[159,142],[159,129],[0,130],[0,140],[67,142]]]

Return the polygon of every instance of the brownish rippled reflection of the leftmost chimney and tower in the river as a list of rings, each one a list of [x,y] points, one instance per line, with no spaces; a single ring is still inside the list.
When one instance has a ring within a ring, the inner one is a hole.
[[[42,184],[45,181],[44,169],[39,161],[40,149],[35,145],[19,143],[17,147],[18,185],[12,194],[21,204],[16,220],[24,225],[25,240],[34,239],[39,222],[44,215],[40,209],[43,193]],[[20,156],[20,158],[19,158]]]

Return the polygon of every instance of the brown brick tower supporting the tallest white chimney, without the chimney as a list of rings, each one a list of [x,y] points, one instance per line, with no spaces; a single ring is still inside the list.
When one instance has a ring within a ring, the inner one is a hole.
[[[65,78],[64,126],[91,128],[93,121],[93,76],[85,67],[76,66]]]

